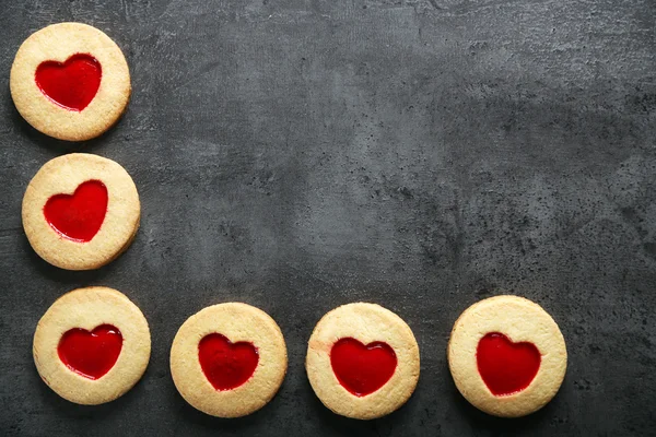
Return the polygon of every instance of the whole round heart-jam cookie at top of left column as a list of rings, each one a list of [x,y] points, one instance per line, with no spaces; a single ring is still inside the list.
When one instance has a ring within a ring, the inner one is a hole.
[[[16,109],[43,133],[68,141],[101,135],[124,114],[130,71],[107,35],[81,23],[52,24],[19,48],[9,80]]]

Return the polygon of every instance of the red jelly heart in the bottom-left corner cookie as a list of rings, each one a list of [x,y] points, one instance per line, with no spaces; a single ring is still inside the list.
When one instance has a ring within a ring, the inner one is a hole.
[[[89,379],[102,378],[114,367],[120,350],[122,335],[112,324],[101,324],[93,331],[73,328],[59,340],[59,359],[74,373]]]

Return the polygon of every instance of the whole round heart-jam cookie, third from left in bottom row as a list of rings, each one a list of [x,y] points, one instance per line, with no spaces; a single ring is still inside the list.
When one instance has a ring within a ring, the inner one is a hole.
[[[419,380],[419,346],[410,327],[375,304],[326,314],[307,345],[305,369],[333,413],[370,420],[403,405]]]

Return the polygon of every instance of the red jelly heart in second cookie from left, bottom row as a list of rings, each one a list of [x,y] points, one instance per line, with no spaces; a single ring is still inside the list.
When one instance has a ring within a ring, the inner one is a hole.
[[[198,343],[198,361],[214,389],[232,390],[253,376],[259,354],[253,343],[233,343],[225,335],[211,333]]]

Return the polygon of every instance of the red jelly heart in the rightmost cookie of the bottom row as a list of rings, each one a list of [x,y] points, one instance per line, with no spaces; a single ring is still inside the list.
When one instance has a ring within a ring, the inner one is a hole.
[[[526,389],[540,369],[541,355],[535,344],[514,343],[499,332],[485,334],[476,350],[479,374],[494,395]]]

